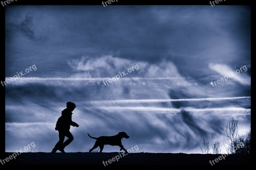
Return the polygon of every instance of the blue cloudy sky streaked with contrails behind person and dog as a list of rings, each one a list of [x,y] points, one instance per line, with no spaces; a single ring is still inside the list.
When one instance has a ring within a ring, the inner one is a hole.
[[[6,152],[51,152],[72,101],[66,152],[124,131],[126,149],[201,153],[232,117],[251,126],[251,7],[6,6],[5,77]]]

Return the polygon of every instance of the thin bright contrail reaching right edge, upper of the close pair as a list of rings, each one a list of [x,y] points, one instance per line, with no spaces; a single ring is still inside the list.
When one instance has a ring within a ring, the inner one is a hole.
[[[235,99],[247,99],[251,97],[225,97],[225,98],[201,98],[201,99],[142,99],[142,100],[101,100],[101,101],[89,101],[89,103],[101,104],[101,103],[158,103],[158,102],[171,102],[171,101],[213,101],[213,100],[235,100]]]

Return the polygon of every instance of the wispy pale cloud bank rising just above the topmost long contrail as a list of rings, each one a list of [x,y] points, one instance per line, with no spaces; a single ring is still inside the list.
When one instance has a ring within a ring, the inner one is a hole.
[[[170,61],[162,61],[160,63],[152,64],[146,61],[136,61],[113,57],[112,55],[105,55],[96,58],[83,56],[81,59],[68,62],[68,65],[79,72],[75,73],[70,78],[78,78],[79,76],[80,78],[112,78],[123,71],[127,73],[128,69],[133,69],[129,74],[129,77],[159,79],[183,78],[176,69],[176,66]]]

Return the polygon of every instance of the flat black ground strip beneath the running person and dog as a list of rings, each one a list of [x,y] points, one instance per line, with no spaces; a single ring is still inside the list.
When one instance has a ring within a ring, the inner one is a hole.
[[[5,158],[13,153],[5,152]],[[15,156],[15,154],[14,154]],[[88,152],[75,152],[75,153],[47,153],[47,152],[26,152],[17,155],[15,159],[4,161],[6,165],[50,165],[50,164],[65,164],[65,165],[209,165],[210,160],[220,157],[220,154],[185,154],[185,153],[129,153],[123,155],[122,152],[110,153],[88,153]],[[116,158],[115,158],[116,157]],[[118,159],[119,157],[119,159]],[[223,155],[225,158],[225,156]],[[3,159],[1,158],[2,162]],[[109,159],[113,159],[108,162]],[[118,159],[118,161],[116,160]],[[107,161],[107,163],[106,163]],[[225,160],[221,160],[215,165],[251,165],[251,155],[226,155]],[[3,162],[3,163],[4,163]],[[3,164],[2,163],[2,164]]]

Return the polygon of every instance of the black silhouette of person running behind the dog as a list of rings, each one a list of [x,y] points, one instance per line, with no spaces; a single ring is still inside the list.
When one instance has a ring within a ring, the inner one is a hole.
[[[55,130],[59,131],[59,141],[52,149],[52,152],[56,152],[57,150],[59,150],[60,152],[65,152],[64,148],[74,140],[74,137],[70,133],[69,129],[70,125],[74,127],[79,127],[76,122],[72,121],[72,111],[75,108],[75,103],[67,102],[67,108],[61,112],[61,116],[59,117],[55,127]],[[68,139],[64,142],[65,136],[68,137]]]

